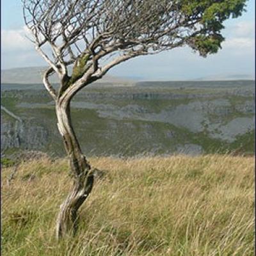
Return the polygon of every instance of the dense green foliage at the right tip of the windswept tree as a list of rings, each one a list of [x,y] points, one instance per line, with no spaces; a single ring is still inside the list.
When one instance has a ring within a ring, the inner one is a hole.
[[[200,19],[201,31],[188,36],[186,44],[201,56],[216,53],[224,38],[220,34],[223,22],[237,18],[244,11],[246,0],[193,0],[180,1],[180,10],[188,20]]]

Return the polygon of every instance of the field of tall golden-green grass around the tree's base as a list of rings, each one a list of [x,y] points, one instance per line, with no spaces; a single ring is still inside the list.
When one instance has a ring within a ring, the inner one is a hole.
[[[2,255],[254,255],[254,158],[207,155],[90,159],[105,175],[81,207],[76,237],[54,221],[67,159],[2,170]]]

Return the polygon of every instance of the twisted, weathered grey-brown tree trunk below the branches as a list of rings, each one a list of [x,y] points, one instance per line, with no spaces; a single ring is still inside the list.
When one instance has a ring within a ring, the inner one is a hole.
[[[72,191],[61,204],[56,223],[56,237],[74,235],[77,229],[77,211],[93,187],[93,172],[81,152],[70,118],[70,102],[57,102],[58,129],[63,138],[65,150],[70,158],[70,169],[74,179]]]

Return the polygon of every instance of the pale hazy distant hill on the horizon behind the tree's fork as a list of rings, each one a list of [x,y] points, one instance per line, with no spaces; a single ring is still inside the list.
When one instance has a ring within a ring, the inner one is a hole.
[[[27,67],[1,70],[1,83],[42,84],[42,74],[46,68],[47,67]],[[52,83],[59,83],[56,75],[51,76],[50,80]],[[97,81],[97,83],[132,86],[134,81],[106,75]]]

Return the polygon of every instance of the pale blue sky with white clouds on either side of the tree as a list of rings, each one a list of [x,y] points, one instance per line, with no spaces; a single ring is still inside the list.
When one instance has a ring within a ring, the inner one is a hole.
[[[225,42],[217,54],[202,58],[189,47],[180,47],[134,58],[114,67],[108,74],[147,81],[255,77],[254,0],[247,2],[246,10],[238,19],[224,23]],[[1,0],[1,69],[46,66],[24,35],[21,0]]]

